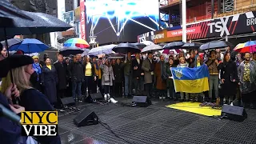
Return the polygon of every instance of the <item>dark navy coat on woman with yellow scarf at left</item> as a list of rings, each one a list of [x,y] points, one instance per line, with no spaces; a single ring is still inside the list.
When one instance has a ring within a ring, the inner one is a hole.
[[[51,70],[47,66],[42,66],[41,74],[42,86],[44,87],[44,93],[48,97],[51,104],[57,102],[57,90],[58,75],[54,66],[51,66]]]

